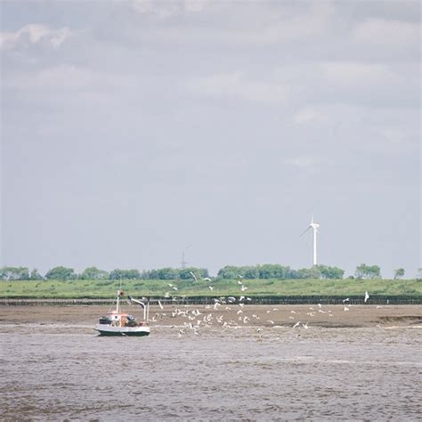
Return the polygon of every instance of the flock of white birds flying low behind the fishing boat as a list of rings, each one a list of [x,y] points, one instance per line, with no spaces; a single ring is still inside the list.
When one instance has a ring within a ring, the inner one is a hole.
[[[198,281],[197,277],[193,272],[191,272],[191,276],[195,281]],[[245,286],[245,283],[243,282],[243,277],[239,276],[238,285],[240,294],[239,296],[224,296],[224,297],[218,297],[214,298],[214,304],[207,304],[204,306],[203,309],[199,310],[198,308],[192,309],[190,304],[184,304],[181,308],[175,308],[171,313],[167,312],[157,312],[152,317],[150,321],[157,322],[162,318],[165,318],[167,316],[170,316],[172,318],[183,318],[183,325],[179,326],[171,326],[172,329],[178,328],[178,336],[182,337],[183,335],[187,334],[188,332],[192,332],[193,335],[199,336],[200,329],[204,327],[211,327],[211,326],[217,326],[220,327],[223,331],[225,329],[234,328],[239,329],[242,326],[251,326],[251,325],[265,325],[270,327],[280,327],[278,325],[275,325],[275,321],[271,319],[266,319],[265,321],[259,321],[261,320],[261,317],[258,316],[256,313],[250,313],[246,314],[246,309],[244,308],[245,304],[251,303],[252,298],[246,295],[246,291],[248,290],[248,287]],[[203,281],[207,281],[209,283],[212,282],[209,278],[203,278],[201,279]],[[177,287],[174,286],[174,284],[167,283],[167,286],[169,288],[172,288],[174,291],[177,291]],[[212,284],[208,285],[208,288],[212,291],[214,289],[214,286]],[[170,297],[170,292],[166,291],[164,297],[167,299]],[[368,291],[365,292],[365,298],[364,303],[366,304],[369,300],[369,293]],[[350,310],[350,298],[346,297],[343,299],[344,304],[344,311],[348,312]],[[161,311],[164,311],[164,305],[161,303],[160,300],[158,300],[158,306],[161,309]],[[233,307],[235,307],[233,309]],[[237,311],[236,311],[237,309]],[[202,311],[202,312],[201,312]],[[212,312],[216,311],[216,312]],[[236,311],[233,313],[232,311]],[[279,311],[278,308],[272,308],[268,309],[266,311],[266,314],[268,315],[267,318],[271,318],[271,313]],[[295,321],[295,323],[292,325],[292,329],[309,329],[308,323],[310,318],[313,318],[317,312],[319,313],[327,313],[329,317],[333,316],[333,313],[331,309],[329,309],[328,306],[323,306],[322,304],[318,304],[318,308],[314,308],[313,306],[309,306],[308,312],[296,312],[295,310],[290,311],[290,315],[288,316],[289,320],[298,320],[299,315],[302,313],[302,316],[305,318],[302,318],[304,321]],[[221,313],[218,313],[221,312]],[[233,316],[235,315],[235,316]],[[259,322],[257,322],[259,321]],[[263,324],[264,322],[264,324]],[[293,322],[293,321],[292,321]],[[259,327],[256,329],[256,332],[261,336],[261,333],[263,332],[263,328]],[[300,337],[300,334],[297,334],[296,337]]]

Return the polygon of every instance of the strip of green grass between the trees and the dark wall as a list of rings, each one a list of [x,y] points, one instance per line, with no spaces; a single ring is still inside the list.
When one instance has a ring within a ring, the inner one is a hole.
[[[173,284],[175,291],[168,286]],[[123,280],[122,289],[131,296],[422,296],[421,280],[237,280],[212,283],[193,280]],[[210,290],[208,285],[214,286]],[[20,298],[112,298],[119,288],[113,280],[0,281],[0,297]]]

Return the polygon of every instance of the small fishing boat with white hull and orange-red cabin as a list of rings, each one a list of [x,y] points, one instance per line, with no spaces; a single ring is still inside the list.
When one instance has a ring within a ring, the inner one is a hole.
[[[122,290],[118,290],[116,309],[101,316],[100,322],[95,325],[95,329],[101,336],[148,336],[150,326],[148,325],[149,302],[140,301],[128,296],[129,303],[140,304],[143,308],[143,321],[137,321],[130,313],[122,312],[120,300],[124,295]]]

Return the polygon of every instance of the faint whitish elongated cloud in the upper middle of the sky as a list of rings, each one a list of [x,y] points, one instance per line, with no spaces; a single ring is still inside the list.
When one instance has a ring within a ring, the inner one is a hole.
[[[188,82],[188,89],[210,97],[237,97],[264,104],[286,103],[289,96],[288,85],[248,80],[242,72],[194,77]]]

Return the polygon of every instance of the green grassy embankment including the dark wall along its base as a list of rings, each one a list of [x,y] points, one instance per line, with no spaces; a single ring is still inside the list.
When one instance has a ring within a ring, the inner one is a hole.
[[[214,304],[215,298],[244,296],[250,304],[421,304],[422,280],[3,280],[1,304],[110,304],[124,297],[149,296],[161,303]],[[248,300],[248,297],[250,300]]]

